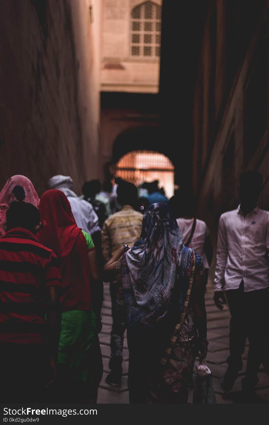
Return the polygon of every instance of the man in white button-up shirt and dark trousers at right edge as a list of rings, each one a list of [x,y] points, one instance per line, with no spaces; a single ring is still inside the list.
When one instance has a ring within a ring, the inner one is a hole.
[[[269,212],[257,206],[263,176],[247,171],[240,176],[240,206],[221,215],[218,228],[214,301],[219,309],[227,297],[230,321],[228,368],[221,388],[230,391],[242,369],[246,338],[249,353],[242,390],[255,396],[267,332],[269,287]]]

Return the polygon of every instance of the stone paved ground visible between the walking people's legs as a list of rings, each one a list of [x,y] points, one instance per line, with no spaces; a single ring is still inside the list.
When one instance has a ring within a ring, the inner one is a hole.
[[[103,329],[99,335],[100,345],[103,356],[104,374],[98,391],[98,403],[128,403],[128,388],[127,388],[127,372],[128,372],[128,348],[125,335],[124,352],[123,352],[123,377],[121,387],[112,387],[105,383],[105,377],[109,373],[109,357],[110,357],[110,330],[112,324],[111,317],[111,301],[109,293],[109,284],[105,283],[104,302],[102,308]],[[209,340],[207,364],[212,371],[213,385],[218,403],[238,403],[240,402],[241,394],[241,379],[246,371],[246,356],[248,346],[243,356],[244,368],[239,374],[235,385],[229,393],[225,394],[220,387],[220,378],[226,369],[226,359],[229,353],[229,310],[225,306],[224,311],[218,310],[213,298],[212,283],[208,284],[206,294],[207,308],[207,334]],[[269,374],[261,366],[259,372],[259,382],[257,385],[257,394],[265,402],[269,403]],[[192,391],[189,394],[189,402],[192,402]]]

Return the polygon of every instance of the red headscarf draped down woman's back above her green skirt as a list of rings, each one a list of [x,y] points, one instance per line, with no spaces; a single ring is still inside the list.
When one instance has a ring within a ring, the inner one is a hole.
[[[57,254],[62,279],[68,291],[62,296],[62,311],[91,307],[90,268],[85,236],[77,227],[70,203],[61,190],[51,189],[40,200],[43,228],[40,242]]]

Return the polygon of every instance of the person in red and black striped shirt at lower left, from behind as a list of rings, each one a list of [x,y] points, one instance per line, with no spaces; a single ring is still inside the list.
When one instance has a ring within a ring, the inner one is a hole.
[[[34,402],[56,377],[62,280],[35,237],[41,226],[34,205],[11,203],[0,238],[1,402]]]

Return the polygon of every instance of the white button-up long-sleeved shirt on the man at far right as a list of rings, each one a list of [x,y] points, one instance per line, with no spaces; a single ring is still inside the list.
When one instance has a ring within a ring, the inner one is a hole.
[[[218,227],[215,291],[244,291],[269,286],[269,212],[254,210],[244,216],[240,210],[221,215]]]

